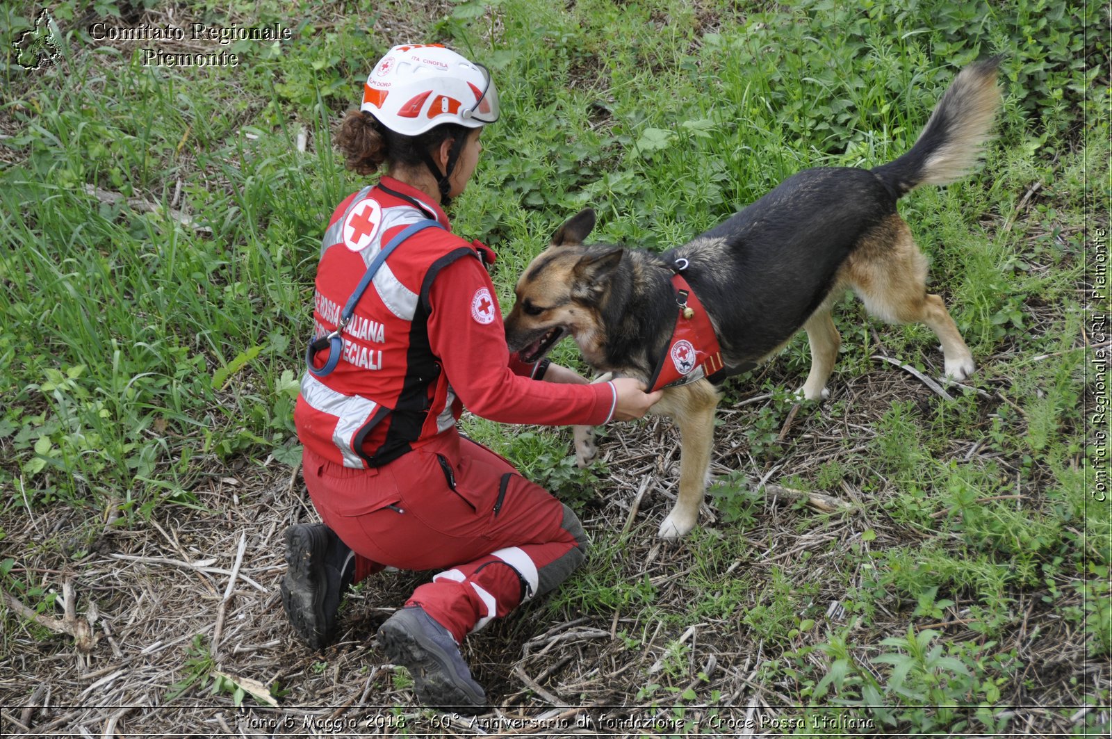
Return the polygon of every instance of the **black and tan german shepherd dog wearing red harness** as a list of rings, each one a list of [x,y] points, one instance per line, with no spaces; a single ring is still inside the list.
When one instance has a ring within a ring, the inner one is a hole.
[[[724,367],[665,388],[653,412],[679,426],[679,492],[659,535],[686,534],[698,519],[721,397],[715,383],[763,362],[802,327],[811,373],[802,395],[828,396],[826,380],[841,336],[831,308],[852,289],[870,314],[891,323],[926,324],[942,343],[945,374],[961,382],[973,355],[937,295],[926,292],[926,259],[896,201],[920,185],[946,185],[970,174],[1000,107],[999,58],[962,70],[910,151],[874,169],[817,167],[692,242],[655,254],[584,245],[595,225],[585,209],[565,223],[522,274],[506,318],[510,349],[536,362],[570,334],[596,372],[649,382],[677,322],[672,277],[682,269],[709,316]],[[577,431],[580,464],[594,455]]]

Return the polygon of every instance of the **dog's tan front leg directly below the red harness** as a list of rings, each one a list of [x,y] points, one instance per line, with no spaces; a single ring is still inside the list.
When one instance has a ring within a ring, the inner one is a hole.
[[[665,539],[683,536],[698,523],[698,509],[706,492],[714,444],[714,410],[718,392],[701,380],[665,391],[653,411],[669,415],[679,426],[679,492],[672,513],[661,524]]]

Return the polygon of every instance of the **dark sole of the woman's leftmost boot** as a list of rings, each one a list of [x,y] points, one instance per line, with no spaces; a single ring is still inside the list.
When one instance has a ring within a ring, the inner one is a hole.
[[[324,534],[305,524],[286,532],[289,566],[281,581],[281,602],[294,631],[310,649],[324,649],[329,635],[325,628],[325,588],[319,587],[327,584],[322,561],[327,542],[322,540]]]

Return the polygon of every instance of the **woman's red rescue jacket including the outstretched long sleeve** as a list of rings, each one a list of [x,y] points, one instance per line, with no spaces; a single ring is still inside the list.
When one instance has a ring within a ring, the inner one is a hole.
[[[391,253],[346,326],[342,353],[325,376],[306,372],[294,420],[307,447],[348,467],[378,466],[454,428],[466,405],[493,421],[598,424],[609,420],[609,385],[556,385],[510,356],[484,263],[494,254],[449,230],[420,190],[390,177],[345,199],[321,245],[314,338],[339,313],[383,246],[425,218],[427,228]],[[325,349],[314,366],[328,361]]]

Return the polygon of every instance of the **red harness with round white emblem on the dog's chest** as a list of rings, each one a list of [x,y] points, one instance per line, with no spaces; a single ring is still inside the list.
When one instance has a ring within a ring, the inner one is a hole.
[[[651,393],[709,377],[723,367],[711,316],[678,273],[673,275],[672,286],[676,290],[676,327],[648,382]]]

